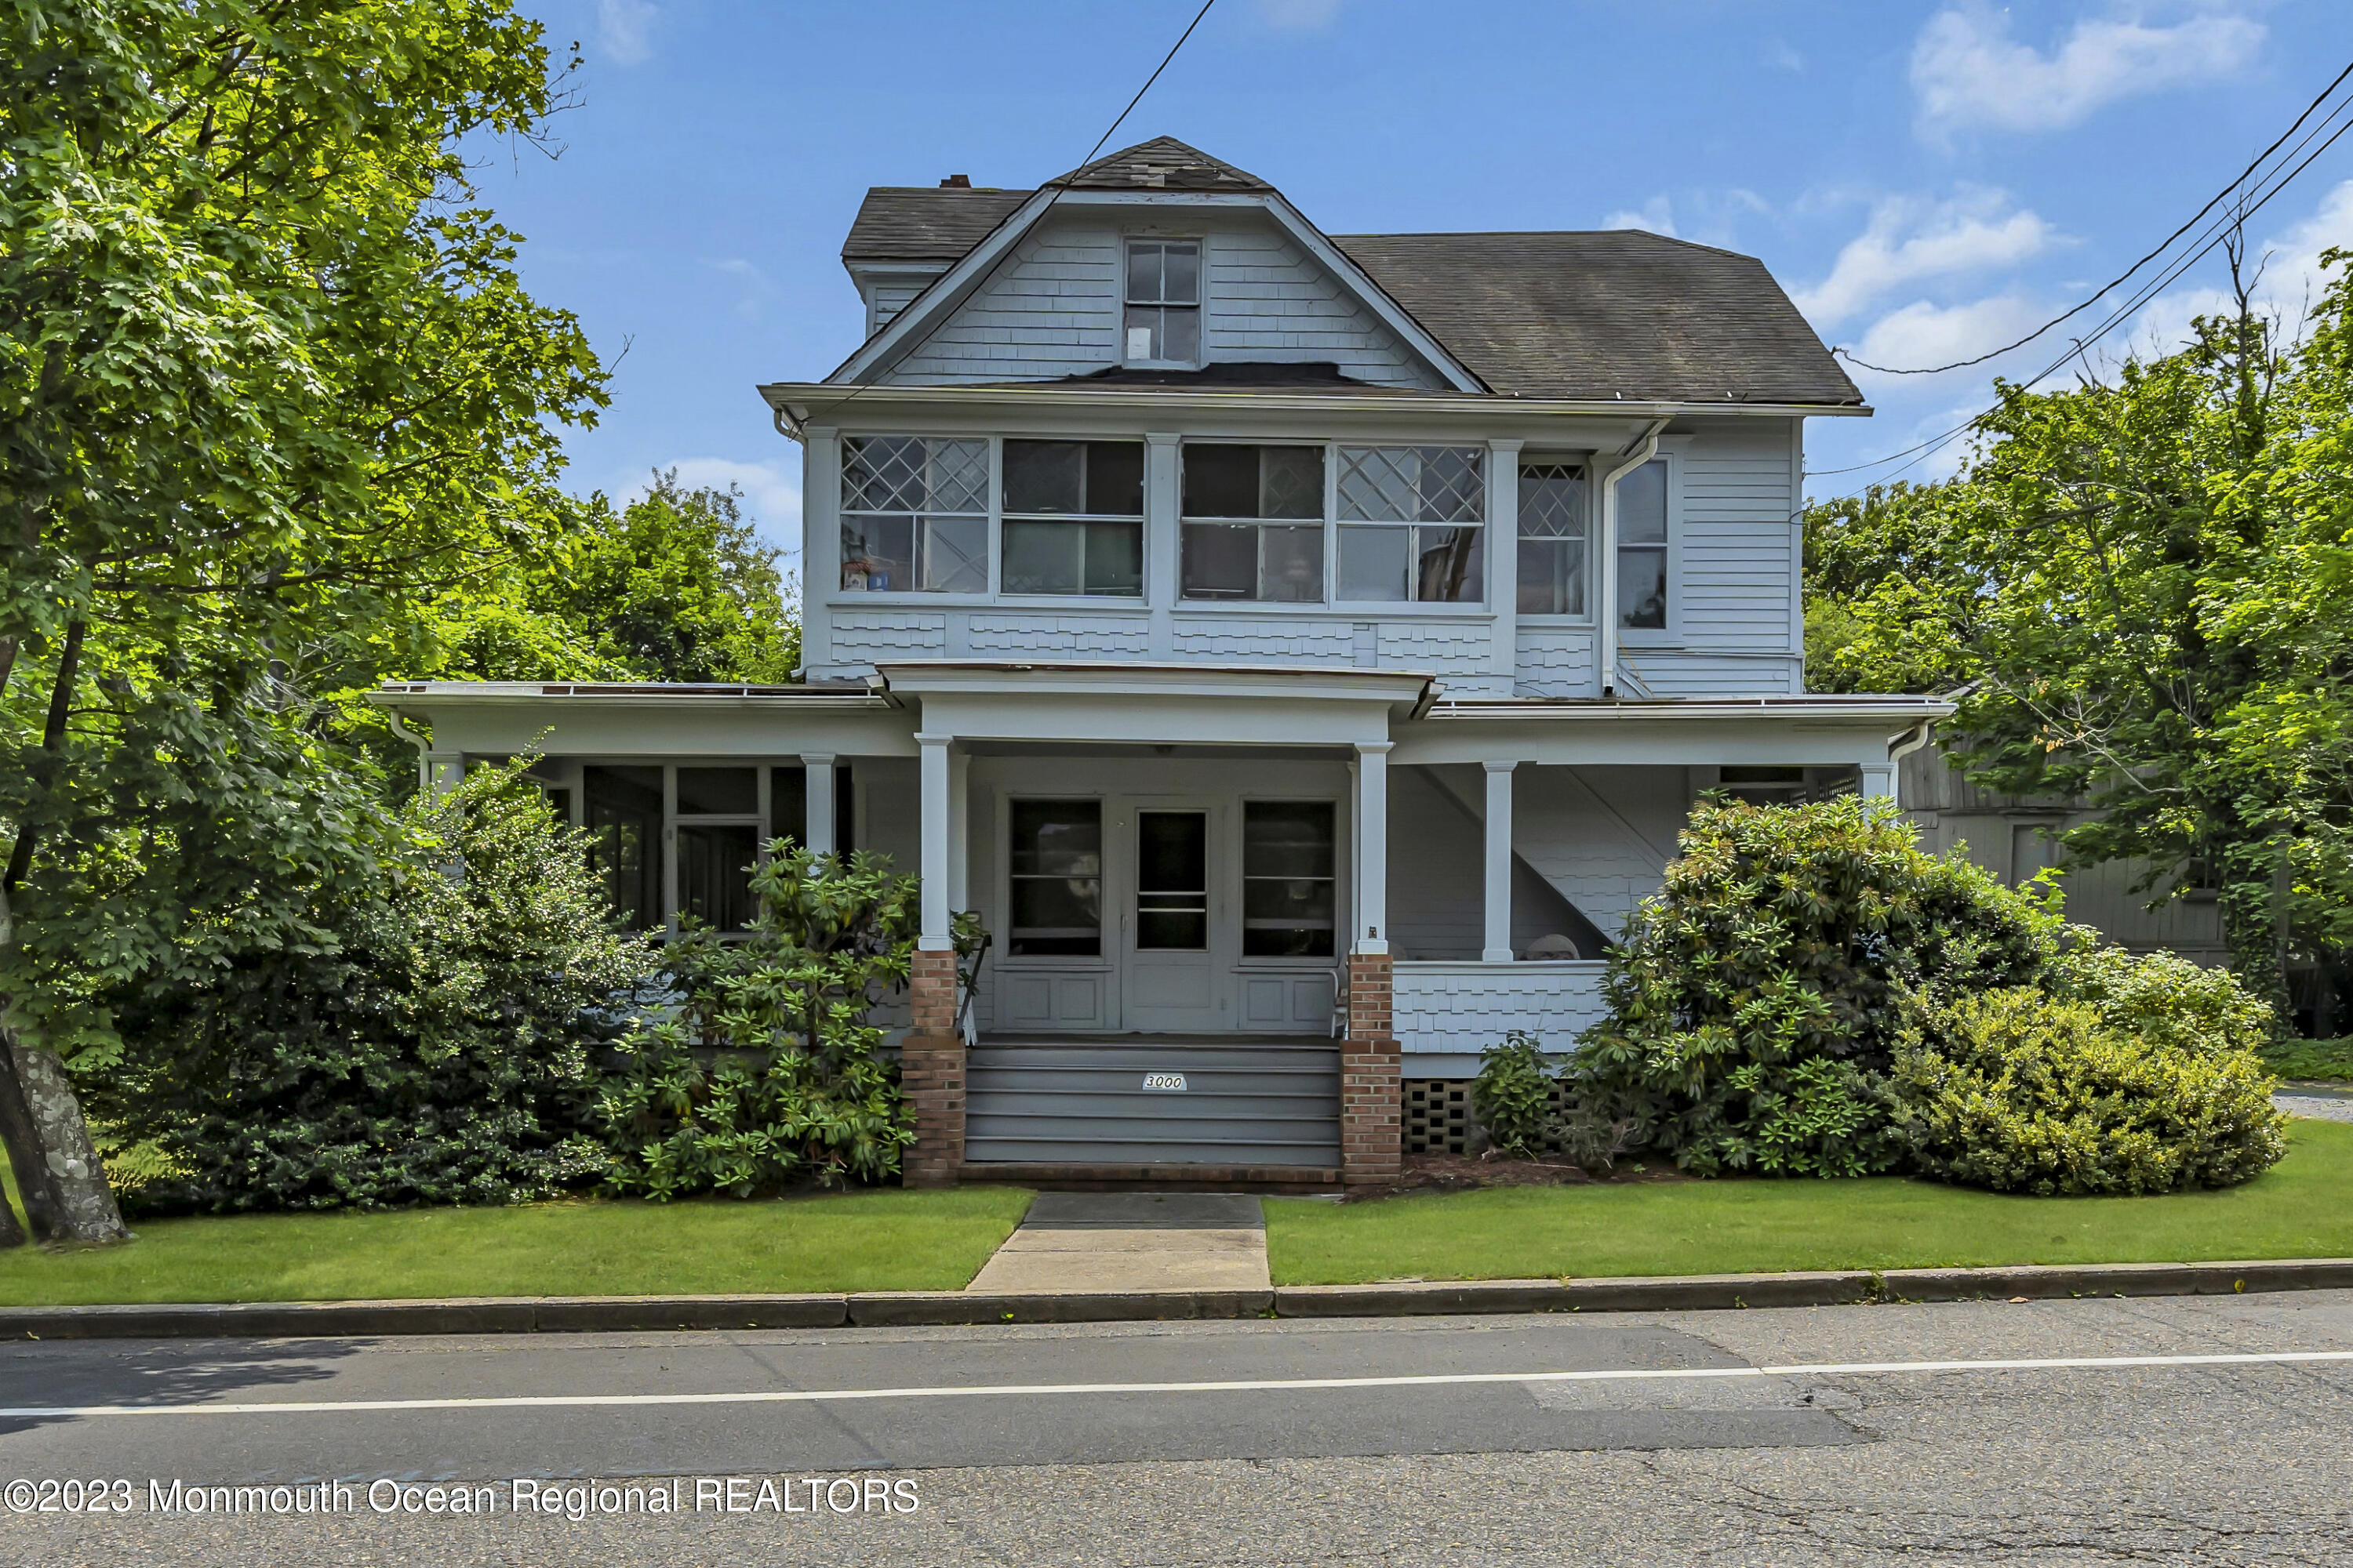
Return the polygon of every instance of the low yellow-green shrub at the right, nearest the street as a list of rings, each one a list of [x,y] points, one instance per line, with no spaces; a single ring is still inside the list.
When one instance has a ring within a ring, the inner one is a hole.
[[[2195,1037],[2200,1013],[2221,1006],[2245,1025],[2242,1009],[2177,969],[2193,971],[2104,959],[2120,985],[2099,999],[2005,987],[1922,1004],[1892,1072],[1892,1138],[1920,1173],[1995,1192],[2179,1192],[2261,1175],[2287,1152],[2273,1079],[2245,1044]]]

